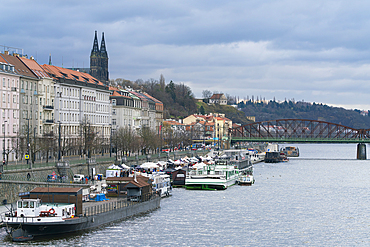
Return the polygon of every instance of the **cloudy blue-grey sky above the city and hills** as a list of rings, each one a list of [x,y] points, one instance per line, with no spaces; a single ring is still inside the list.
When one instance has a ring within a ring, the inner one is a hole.
[[[370,1],[0,0],[0,50],[89,67],[104,32],[110,79],[370,110]],[[18,50],[19,51],[19,50]],[[19,52],[21,52],[20,50]]]

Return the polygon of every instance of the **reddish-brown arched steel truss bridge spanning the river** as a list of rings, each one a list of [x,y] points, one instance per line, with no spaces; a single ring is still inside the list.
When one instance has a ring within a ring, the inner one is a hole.
[[[370,143],[370,129],[308,119],[254,122],[230,129],[231,141]]]

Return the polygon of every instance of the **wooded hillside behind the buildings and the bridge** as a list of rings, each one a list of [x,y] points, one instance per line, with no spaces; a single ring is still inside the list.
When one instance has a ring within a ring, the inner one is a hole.
[[[208,105],[204,102],[197,102],[191,88],[183,83],[176,84],[170,81],[165,82],[163,75],[159,80],[141,79],[135,82],[118,78],[111,80],[113,86],[120,85],[123,88],[129,87],[135,90],[142,90],[160,100],[164,104],[164,118],[182,119],[190,114],[201,113],[224,113],[234,123],[247,124],[250,121],[246,116],[254,116],[256,121],[266,121],[284,118],[321,120],[336,124],[342,124],[352,128],[370,128],[370,117],[363,116],[359,110],[346,110],[339,107],[331,107],[325,104],[287,101],[253,101],[240,102],[236,106],[236,97],[225,94],[228,99],[227,106]],[[209,90],[202,92],[205,101],[213,93]],[[261,97],[262,98],[262,97]]]

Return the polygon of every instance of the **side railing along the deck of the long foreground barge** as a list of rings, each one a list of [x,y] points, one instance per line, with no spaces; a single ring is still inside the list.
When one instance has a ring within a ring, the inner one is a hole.
[[[130,207],[141,202],[151,201],[156,199],[157,197],[157,194],[145,194],[141,196],[131,196],[130,198],[100,203],[98,205],[92,205],[84,208],[83,215],[92,216],[113,210],[118,210],[120,208]]]

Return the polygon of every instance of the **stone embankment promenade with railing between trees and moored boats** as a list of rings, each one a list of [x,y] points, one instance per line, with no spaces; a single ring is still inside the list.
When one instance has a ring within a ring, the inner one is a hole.
[[[160,154],[140,155],[119,157],[119,162],[123,162],[128,166],[135,167],[144,162],[157,162],[159,160],[167,161],[169,159],[177,160],[182,157],[193,157],[197,155],[205,155],[209,150],[184,151],[184,152],[169,152]],[[18,199],[19,192],[32,190],[35,186],[50,186],[50,187],[73,187],[85,184],[74,184],[72,178],[74,174],[91,174],[91,169],[95,169],[95,174],[105,175],[106,169],[116,161],[116,157],[109,154],[104,156],[94,155],[90,159],[93,162],[87,162],[85,158],[81,157],[63,157],[67,168],[65,169],[67,179],[59,182],[48,182],[47,176],[50,174],[59,174],[59,169],[56,166],[57,162],[49,160],[50,162],[35,162],[28,164],[26,162],[9,162],[4,166],[3,173],[0,179],[0,200],[6,199],[9,202],[14,202]],[[88,181],[88,184],[90,182]],[[89,186],[86,184],[86,186]],[[1,204],[2,201],[0,201]]]

